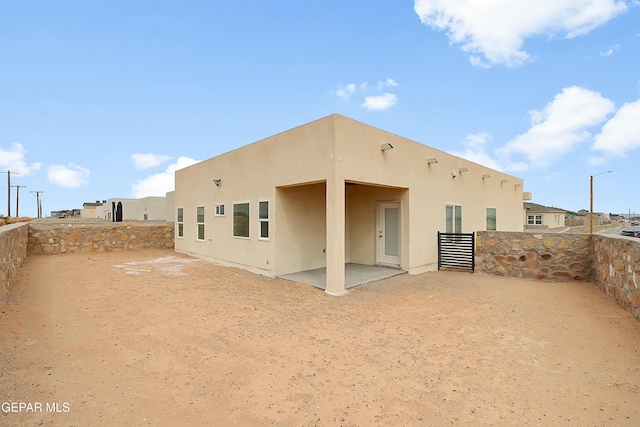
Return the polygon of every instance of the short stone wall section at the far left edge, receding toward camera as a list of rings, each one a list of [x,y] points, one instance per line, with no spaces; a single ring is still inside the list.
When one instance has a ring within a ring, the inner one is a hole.
[[[0,227],[0,301],[11,290],[15,271],[27,257],[29,224],[20,222]]]

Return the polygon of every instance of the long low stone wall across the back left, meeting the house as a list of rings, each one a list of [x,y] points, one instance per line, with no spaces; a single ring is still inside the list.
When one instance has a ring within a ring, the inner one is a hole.
[[[29,223],[30,254],[171,249],[173,222],[44,219]]]

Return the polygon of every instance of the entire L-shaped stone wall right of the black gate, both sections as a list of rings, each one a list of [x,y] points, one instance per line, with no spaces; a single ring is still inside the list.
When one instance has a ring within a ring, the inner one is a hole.
[[[476,272],[593,282],[640,320],[640,239],[480,231],[476,235]]]

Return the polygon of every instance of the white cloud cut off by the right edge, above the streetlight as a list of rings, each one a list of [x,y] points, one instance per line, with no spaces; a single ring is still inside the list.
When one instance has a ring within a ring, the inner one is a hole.
[[[593,149],[614,156],[640,148],[640,99],[624,104],[596,135]]]

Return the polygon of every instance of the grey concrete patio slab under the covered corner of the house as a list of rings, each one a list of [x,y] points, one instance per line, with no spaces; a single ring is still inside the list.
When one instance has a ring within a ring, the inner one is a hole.
[[[353,263],[345,264],[344,270],[345,288],[347,289],[406,273],[405,270],[401,270],[400,268]],[[280,279],[311,285],[319,289],[326,289],[327,269],[325,267],[315,268],[313,270],[298,271],[278,277]]]

